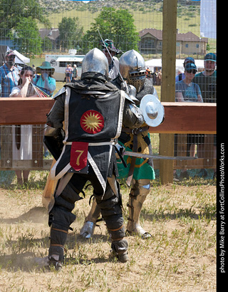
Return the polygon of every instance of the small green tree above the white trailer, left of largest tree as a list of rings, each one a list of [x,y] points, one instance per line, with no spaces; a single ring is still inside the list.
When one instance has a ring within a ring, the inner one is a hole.
[[[63,17],[58,24],[58,30],[62,51],[80,45],[83,27],[78,25],[78,17]]]

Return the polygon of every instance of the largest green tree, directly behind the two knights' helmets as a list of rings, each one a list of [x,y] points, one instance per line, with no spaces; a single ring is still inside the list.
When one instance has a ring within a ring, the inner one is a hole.
[[[140,38],[134,25],[133,16],[125,9],[105,7],[91,24],[90,30],[83,37],[83,51],[86,53],[91,48],[100,48],[100,34],[103,38],[112,39],[115,47],[123,51],[135,49],[138,51]]]

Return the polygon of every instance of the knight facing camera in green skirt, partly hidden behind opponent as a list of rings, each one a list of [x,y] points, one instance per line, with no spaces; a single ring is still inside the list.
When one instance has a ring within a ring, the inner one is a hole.
[[[140,101],[147,94],[157,95],[155,88],[150,80],[146,78],[145,61],[140,53],[135,50],[127,51],[120,57],[120,74],[131,90],[136,88],[136,104],[140,105]],[[118,76],[113,83],[121,88],[121,78]],[[134,88],[132,87],[134,86]],[[142,127],[133,129],[131,126],[123,125],[118,143],[125,147],[125,150],[139,152],[152,155],[152,147],[150,144],[149,126],[143,124]],[[150,193],[150,180],[155,179],[152,159],[136,158],[125,156],[125,163],[128,167],[124,167],[123,163],[118,161],[119,178],[127,178],[127,184],[130,186],[129,202],[128,202],[128,225],[129,234],[137,234],[142,239],[151,236],[140,226],[140,212],[142,204],[147,194]],[[100,209],[93,201],[88,217],[86,217],[81,236],[90,238],[92,236],[96,221],[100,216]]]

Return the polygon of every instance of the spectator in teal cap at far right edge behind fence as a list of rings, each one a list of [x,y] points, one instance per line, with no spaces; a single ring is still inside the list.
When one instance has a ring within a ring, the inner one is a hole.
[[[217,56],[215,53],[207,53],[204,56],[204,71],[195,75],[193,82],[199,85],[202,93],[202,99],[204,103],[217,103]],[[201,157],[204,152],[204,145],[199,149],[198,156]],[[217,152],[217,135],[214,135],[214,158],[216,158]],[[207,177],[206,170],[200,170],[199,176]],[[214,170],[214,177],[217,173]]]

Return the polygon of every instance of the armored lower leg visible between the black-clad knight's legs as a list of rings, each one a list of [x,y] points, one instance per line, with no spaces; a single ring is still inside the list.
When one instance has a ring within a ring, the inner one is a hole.
[[[89,239],[91,236],[93,236],[95,224],[98,217],[100,217],[100,208],[98,207],[98,204],[95,202],[95,198],[93,198],[92,207],[80,231],[81,236],[83,236],[86,239]]]

